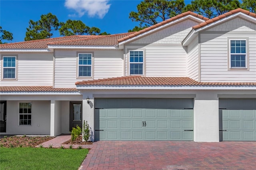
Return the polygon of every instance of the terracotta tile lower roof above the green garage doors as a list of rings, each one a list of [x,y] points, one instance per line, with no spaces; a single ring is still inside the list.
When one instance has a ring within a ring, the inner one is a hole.
[[[78,81],[76,85],[246,85],[255,86],[255,83],[200,83],[189,77],[142,77],[126,76],[108,79],[97,79],[88,81]]]

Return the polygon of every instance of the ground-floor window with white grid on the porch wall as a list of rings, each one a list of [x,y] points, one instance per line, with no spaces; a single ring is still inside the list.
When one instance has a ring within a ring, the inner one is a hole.
[[[31,125],[32,103],[19,103],[19,125]]]

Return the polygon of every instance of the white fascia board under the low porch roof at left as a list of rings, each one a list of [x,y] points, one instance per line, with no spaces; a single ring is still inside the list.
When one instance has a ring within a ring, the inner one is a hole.
[[[0,91],[0,95],[82,95],[79,91],[77,92],[45,92],[45,91]]]

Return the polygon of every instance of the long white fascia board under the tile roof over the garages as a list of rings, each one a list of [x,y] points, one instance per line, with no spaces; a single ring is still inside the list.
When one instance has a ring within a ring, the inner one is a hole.
[[[256,90],[255,86],[77,86],[90,90]]]

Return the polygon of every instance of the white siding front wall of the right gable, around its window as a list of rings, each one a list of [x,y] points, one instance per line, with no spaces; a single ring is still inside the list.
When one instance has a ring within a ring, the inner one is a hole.
[[[220,24],[201,36],[202,82],[255,82],[256,81],[256,24],[235,18]],[[218,31],[230,31],[226,34]],[[236,31],[236,32],[234,32]],[[237,34],[237,31],[241,31]],[[246,32],[248,31],[248,32]],[[254,33],[253,33],[253,32]],[[236,33],[236,34],[235,34]],[[253,34],[252,34],[253,33]],[[248,38],[249,70],[228,70],[228,38]]]

